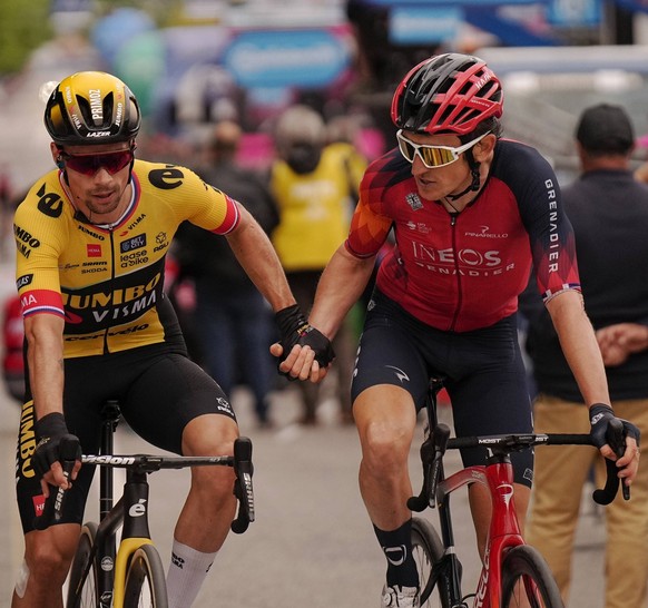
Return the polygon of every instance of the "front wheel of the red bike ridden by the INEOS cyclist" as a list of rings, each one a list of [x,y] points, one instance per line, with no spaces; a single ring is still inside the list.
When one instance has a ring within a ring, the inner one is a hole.
[[[511,549],[502,565],[501,608],[563,608],[551,570],[537,549],[521,545]]]

